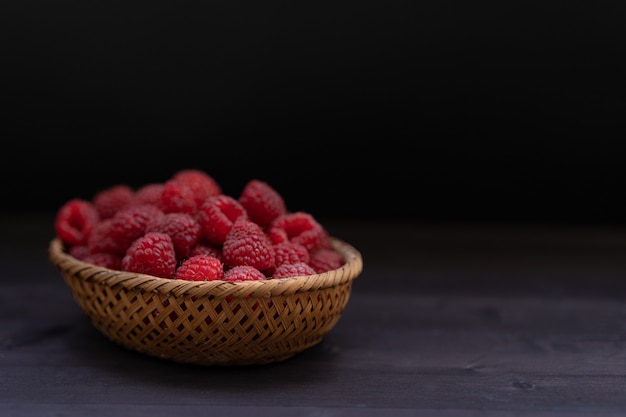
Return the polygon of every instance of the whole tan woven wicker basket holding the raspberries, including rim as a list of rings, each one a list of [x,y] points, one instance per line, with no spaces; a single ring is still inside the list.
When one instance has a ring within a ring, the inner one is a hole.
[[[184,281],[115,271],[48,248],[77,304],[111,341],[197,365],[284,361],[322,341],[341,317],[361,254],[331,238],[345,264],[311,276],[266,281]]]

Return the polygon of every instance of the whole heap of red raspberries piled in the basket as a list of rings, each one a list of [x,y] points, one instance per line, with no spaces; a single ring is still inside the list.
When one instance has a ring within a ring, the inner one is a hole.
[[[238,197],[198,169],[138,189],[116,184],[73,198],[54,220],[76,259],[160,278],[231,282],[308,276],[343,257],[310,214],[290,212],[267,182],[252,179]]]

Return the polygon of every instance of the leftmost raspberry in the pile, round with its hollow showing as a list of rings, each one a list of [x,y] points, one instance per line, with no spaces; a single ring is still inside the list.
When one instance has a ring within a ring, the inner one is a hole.
[[[66,246],[84,245],[99,221],[98,210],[90,201],[74,198],[57,211],[54,229]]]

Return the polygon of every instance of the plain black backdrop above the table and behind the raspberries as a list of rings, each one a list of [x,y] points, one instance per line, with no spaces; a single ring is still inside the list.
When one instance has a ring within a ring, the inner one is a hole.
[[[5,212],[199,168],[320,218],[626,223],[620,2],[0,7]]]

